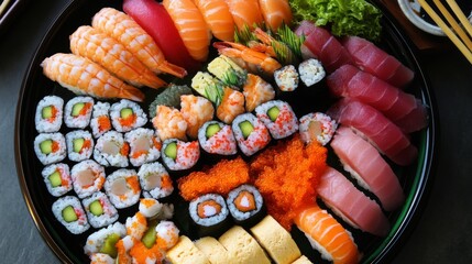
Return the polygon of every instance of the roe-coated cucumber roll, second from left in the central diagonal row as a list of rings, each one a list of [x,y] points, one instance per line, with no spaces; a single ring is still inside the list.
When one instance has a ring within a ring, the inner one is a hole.
[[[201,148],[210,154],[234,155],[237,142],[229,124],[208,121],[198,130],[198,142]]]

